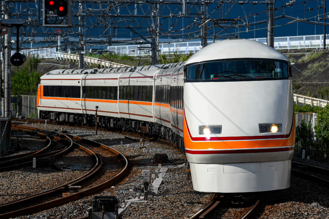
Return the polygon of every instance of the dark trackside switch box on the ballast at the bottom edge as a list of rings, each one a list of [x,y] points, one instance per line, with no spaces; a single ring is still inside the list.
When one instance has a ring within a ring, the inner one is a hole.
[[[115,196],[94,196],[88,219],[119,219],[118,199]]]

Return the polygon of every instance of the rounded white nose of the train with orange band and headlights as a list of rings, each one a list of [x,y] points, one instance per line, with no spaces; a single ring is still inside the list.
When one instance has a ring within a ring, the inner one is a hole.
[[[184,144],[193,188],[290,187],[295,146],[289,60],[252,40],[223,40],[184,66]]]

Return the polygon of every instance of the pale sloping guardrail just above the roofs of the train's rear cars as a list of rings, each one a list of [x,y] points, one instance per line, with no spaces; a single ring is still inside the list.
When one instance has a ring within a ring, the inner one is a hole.
[[[70,53],[63,53],[63,52],[55,52],[55,58],[57,60],[65,60],[70,62],[79,62],[79,55],[77,54],[70,54]],[[95,64],[97,66],[101,66],[103,68],[120,68],[120,67],[129,67],[128,65],[119,64],[111,61],[100,60],[97,58],[87,57],[84,56],[84,63],[91,66]]]

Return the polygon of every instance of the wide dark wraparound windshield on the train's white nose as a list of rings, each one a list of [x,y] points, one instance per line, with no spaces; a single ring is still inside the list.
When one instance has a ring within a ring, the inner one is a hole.
[[[291,77],[290,66],[282,60],[229,60],[198,63],[185,68],[188,81],[275,80]]]

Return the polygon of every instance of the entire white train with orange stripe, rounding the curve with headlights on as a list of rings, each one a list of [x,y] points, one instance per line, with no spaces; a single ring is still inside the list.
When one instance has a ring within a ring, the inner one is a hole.
[[[184,63],[55,70],[41,77],[39,117],[169,139],[193,188],[244,193],[290,186],[295,146],[291,65],[252,40],[223,40]],[[182,144],[183,142],[183,144]]]

